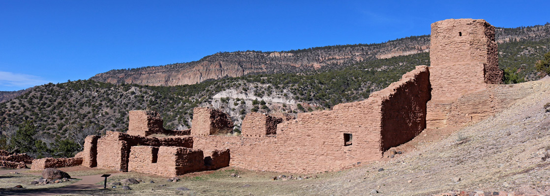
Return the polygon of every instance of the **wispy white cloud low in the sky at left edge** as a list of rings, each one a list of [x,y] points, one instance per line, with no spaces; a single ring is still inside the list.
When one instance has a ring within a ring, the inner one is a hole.
[[[0,71],[0,87],[29,88],[48,83],[47,80],[29,74]]]

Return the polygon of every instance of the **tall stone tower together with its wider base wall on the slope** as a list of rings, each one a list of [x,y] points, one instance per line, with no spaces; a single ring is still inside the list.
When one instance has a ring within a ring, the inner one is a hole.
[[[494,27],[485,20],[434,22],[430,64],[433,99],[427,105],[427,128],[478,122],[507,106],[483,93],[503,80]]]

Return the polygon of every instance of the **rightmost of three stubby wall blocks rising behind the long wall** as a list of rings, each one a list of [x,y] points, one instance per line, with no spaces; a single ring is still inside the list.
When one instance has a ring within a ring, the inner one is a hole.
[[[282,118],[268,116],[267,114],[251,112],[246,114],[241,125],[241,135],[244,137],[264,137],[277,133],[277,124],[282,123]]]

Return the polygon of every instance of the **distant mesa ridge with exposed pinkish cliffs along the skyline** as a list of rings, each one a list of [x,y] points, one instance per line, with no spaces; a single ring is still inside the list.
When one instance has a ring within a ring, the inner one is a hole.
[[[498,43],[539,41],[550,35],[550,24],[497,28]],[[377,44],[333,45],[289,51],[236,51],[205,56],[199,61],[111,70],[90,79],[113,84],[174,86],[208,79],[240,77],[254,73],[292,73],[339,68],[370,59],[411,55],[429,51],[430,36],[411,36]]]

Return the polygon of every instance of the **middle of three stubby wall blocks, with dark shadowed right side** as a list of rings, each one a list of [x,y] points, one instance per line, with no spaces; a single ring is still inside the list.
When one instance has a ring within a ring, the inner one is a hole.
[[[233,130],[233,121],[226,113],[210,107],[195,107],[191,135],[223,135]]]

